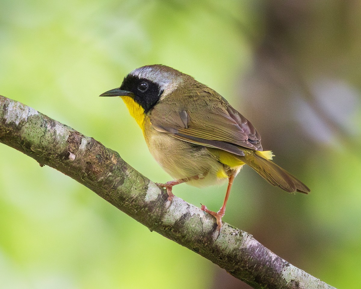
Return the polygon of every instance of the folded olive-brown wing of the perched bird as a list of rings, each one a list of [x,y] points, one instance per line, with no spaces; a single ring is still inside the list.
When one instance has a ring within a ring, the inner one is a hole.
[[[222,108],[200,110],[177,111],[170,105],[159,105],[151,112],[150,120],[156,130],[187,142],[220,148],[240,156],[244,156],[242,147],[261,151],[261,137],[255,127],[225,99],[221,101]]]

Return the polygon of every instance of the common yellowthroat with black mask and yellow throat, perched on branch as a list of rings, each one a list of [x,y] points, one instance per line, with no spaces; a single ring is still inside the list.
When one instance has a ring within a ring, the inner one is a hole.
[[[120,87],[100,96],[120,96],[143,131],[149,151],[175,180],[165,184],[172,200],[174,185],[187,182],[201,187],[228,180],[223,206],[216,217],[222,227],[226,203],[235,176],[249,165],[271,185],[287,192],[310,190],[271,161],[263,151],[255,127],[213,89],[165,65],[133,70]]]

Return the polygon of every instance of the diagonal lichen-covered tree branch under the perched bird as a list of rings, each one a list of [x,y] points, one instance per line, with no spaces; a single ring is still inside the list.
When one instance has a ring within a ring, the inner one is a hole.
[[[0,142],[68,175],[151,231],[195,251],[253,288],[334,288],[283,260],[251,234],[215,219],[137,172],[116,151],[0,96]]]

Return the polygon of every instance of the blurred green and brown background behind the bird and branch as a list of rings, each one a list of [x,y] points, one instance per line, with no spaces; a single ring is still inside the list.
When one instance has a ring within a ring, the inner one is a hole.
[[[166,64],[247,117],[309,195],[244,168],[224,221],[337,288],[361,283],[359,1],[0,1],[0,94],[119,152],[156,182],[120,99]],[[0,144],[0,288],[249,288],[90,190]],[[226,186],[174,193],[218,210]]]

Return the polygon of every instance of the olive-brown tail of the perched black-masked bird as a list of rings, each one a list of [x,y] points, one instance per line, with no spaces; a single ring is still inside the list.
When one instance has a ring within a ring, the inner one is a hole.
[[[297,178],[283,168],[270,161],[269,158],[266,158],[264,152],[260,152],[260,154],[257,154],[257,152],[245,152],[244,162],[271,185],[278,186],[290,193],[296,191],[305,194],[309,193],[310,189],[303,182],[297,180]]]

